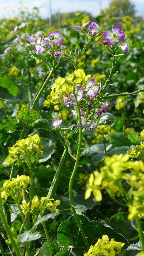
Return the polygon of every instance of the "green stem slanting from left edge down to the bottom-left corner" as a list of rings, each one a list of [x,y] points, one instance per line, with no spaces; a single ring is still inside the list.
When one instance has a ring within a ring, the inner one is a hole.
[[[15,250],[16,255],[17,255],[17,256],[20,256],[20,251],[19,251],[18,246],[16,245],[16,242],[15,242],[15,239],[14,239],[14,235],[13,235],[13,233],[11,232],[10,227],[9,227],[9,225],[7,224],[7,221],[6,221],[6,219],[5,219],[5,214],[4,214],[4,212],[3,212],[3,207],[2,207],[1,193],[0,193],[0,217],[1,217],[1,220],[2,220],[3,225],[4,225],[4,227],[5,227],[5,231],[6,231],[8,237],[9,237],[9,239],[10,239],[10,241],[11,241],[11,244],[12,244],[14,250]]]

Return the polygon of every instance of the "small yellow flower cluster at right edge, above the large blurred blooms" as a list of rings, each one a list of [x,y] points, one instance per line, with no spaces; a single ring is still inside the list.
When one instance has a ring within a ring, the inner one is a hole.
[[[144,156],[144,142],[140,142],[140,145],[137,145],[135,148],[132,148],[132,150],[129,150],[127,154],[132,158],[132,160],[133,158],[142,159]]]

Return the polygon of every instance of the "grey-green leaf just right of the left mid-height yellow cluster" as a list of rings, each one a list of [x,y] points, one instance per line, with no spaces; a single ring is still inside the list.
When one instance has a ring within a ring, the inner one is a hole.
[[[47,138],[41,138],[41,143],[43,145],[43,155],[39,155],[38,162],[46,162],[48,159],[51,158],[51,155],[55,152],[55,144]]]

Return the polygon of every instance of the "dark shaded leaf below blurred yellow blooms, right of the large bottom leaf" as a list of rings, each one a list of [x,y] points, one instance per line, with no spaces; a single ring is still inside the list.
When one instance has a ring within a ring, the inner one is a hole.
[[[108,225],[115,229],[115,231],[121,233],[126,239],[136,237],[137,231],[131,226],[130,220],[128,220],[127,212],[119,212],[113,215]]]

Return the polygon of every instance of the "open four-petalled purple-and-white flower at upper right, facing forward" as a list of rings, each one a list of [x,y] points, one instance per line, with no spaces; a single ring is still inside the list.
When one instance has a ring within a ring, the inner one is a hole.
[[[107,39],[107,43],[109,45],[114,45],[115,44],[115,38],[118,40],[118,41],[123,41],[123,39],[125,38],[125,33],[122,32],[122,28],[120,26],[114,26],[112,27],[112,32],[111,33],[110,31],[106,30],[104,33],[103,33],[103,37],[105,39]]]

